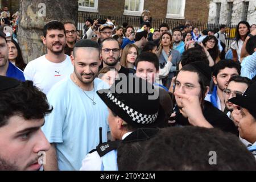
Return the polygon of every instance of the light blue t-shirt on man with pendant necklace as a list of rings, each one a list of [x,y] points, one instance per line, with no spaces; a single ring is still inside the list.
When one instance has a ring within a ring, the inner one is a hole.
[[[55,143],[61,171],[80,169],[82,159],[100,143],[99,127],[102,127],[102,142],[108,140],[108,107],[96,93],[107,88],[108,84],[95,78],[94,90],[83,91],[67,77],[48,92],[53,111],[44,118],[42,130],[49,143]]]

